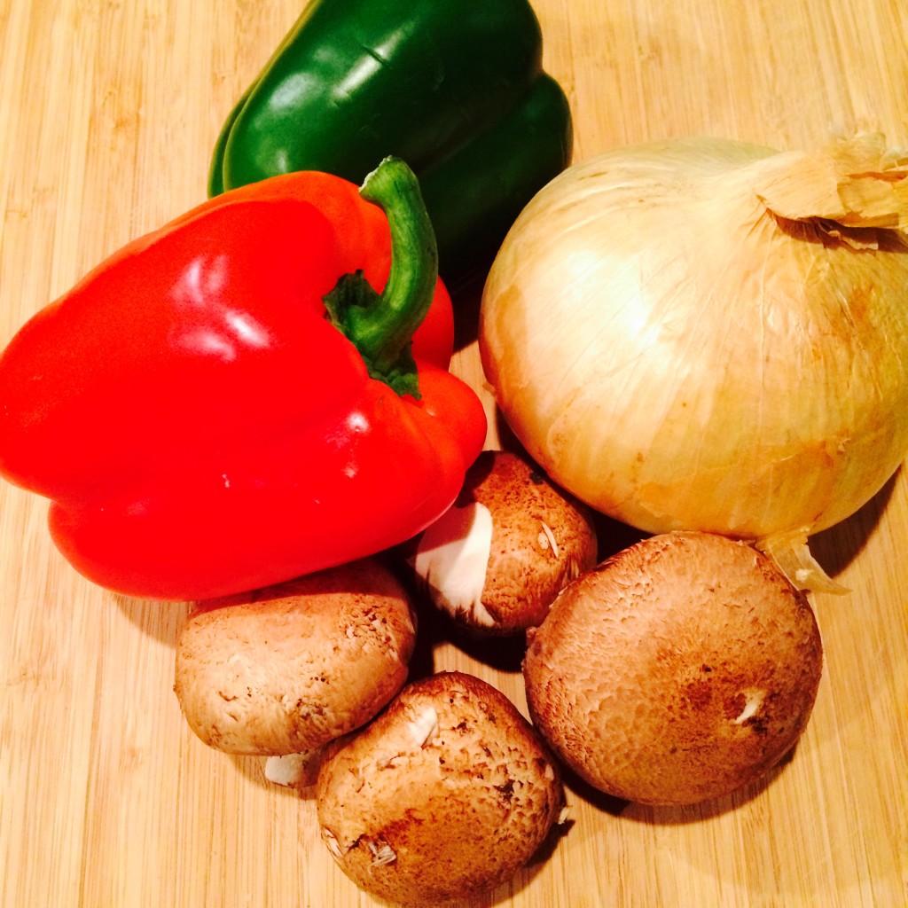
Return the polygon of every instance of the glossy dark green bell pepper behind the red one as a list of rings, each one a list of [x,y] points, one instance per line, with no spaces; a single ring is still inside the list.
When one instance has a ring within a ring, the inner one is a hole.
[[[457,284],[570,163],[568,100],[527,0],[312,0],[224,123],[208,191],[388,155],[418,174]]]

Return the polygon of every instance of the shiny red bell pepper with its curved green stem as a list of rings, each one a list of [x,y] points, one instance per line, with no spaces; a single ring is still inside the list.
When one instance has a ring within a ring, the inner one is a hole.
[[[479,399],[446,370],[452,325],[405,164],[361,191],[254,183],[18,331],[0,474],[51,498],[57,547],[125,594],[216,597],[342,564],[438,518],[482,447]]]

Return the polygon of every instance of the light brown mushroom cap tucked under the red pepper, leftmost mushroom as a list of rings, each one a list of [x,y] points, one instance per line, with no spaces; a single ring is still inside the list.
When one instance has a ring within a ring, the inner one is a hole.
[[[410,599],[375,558],[197,604],[174,690],[192,730],[232,754],[308,751],[368,722],[407,679]]]

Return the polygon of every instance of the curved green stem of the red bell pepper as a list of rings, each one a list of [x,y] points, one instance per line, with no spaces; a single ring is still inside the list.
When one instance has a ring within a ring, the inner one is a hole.
[[[439,253],[419,181],[400,158],[388,157],[370,173],[360,195],[379,205],[391,232],[388,283],[380,294],[361,275],[345,275],[325,297],[331,320],[360,351],[372,378],[399,394],[419,396],[410,352],[435,295]]]

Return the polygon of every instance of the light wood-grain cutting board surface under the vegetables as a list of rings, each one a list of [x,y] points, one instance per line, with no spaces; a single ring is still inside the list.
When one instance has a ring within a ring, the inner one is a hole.
[[[870,128],[908,144],[903,0],[535,6],[575,114],[575,160],[685,134],[801,148]],[[124,242],[202,201],[223,118],[300,10],[0,0],[0,342]],[[482,390],[470,326],[460,329],[456,368]],[[0,484],[3,905],[374,904],[321,845],[311,799],[183,722],[173,647],[185,607],[77,576],[45,512]],[[624,538],[612,526],[604,545]],[[765,784],[670,810],[572,787],[567,831],[474,906],[908,904],[906,544],[903,472],[814,539],[852,593],[814,596],[823,683],[794,757]],[[425,646],[424,669],[471,671],[526,708],[512,647],[467,652],[431,635]]]

